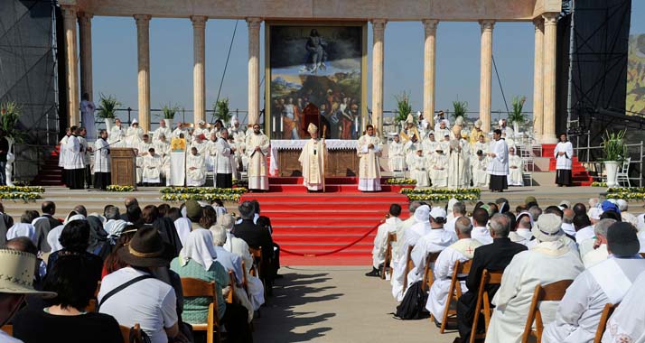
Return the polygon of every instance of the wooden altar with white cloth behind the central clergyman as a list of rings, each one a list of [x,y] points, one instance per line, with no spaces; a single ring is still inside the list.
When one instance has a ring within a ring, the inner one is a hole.
[[[307,139],[272,140],[270,171],[274,176],[302,176],[302,166],[298,162]],[[357,176],[359,156],[356,153],[358,142],[355,140],[327,139],[326,176]]]

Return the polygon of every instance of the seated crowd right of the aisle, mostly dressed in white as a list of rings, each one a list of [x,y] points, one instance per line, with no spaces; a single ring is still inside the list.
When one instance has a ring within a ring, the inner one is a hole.
[[[459,332],[454,342],[645,339],[645,214],[625,200],[542,209],[527,197],[511,209],[500,198],[471,211],[412,201],[409,213],[391,206],[366,273],[389,280],[397,318],[429,313],[442,333]]]

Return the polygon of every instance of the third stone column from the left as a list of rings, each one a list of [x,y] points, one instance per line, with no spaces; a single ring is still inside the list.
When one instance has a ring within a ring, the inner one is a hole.
[[[135,14],[138,60],[139,127],[150,131],[150,15]]]

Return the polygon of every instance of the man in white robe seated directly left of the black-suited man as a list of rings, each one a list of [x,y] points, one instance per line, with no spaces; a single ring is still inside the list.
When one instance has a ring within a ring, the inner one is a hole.
[[[438,321],[444,318],[445,301],[448,300],[450,295],[448,292],[453,279],[454,264],[457,261],[465,262],[472,259],[475,249],[481,246],[479,241],[471,238],[472,224],[470,219],[466,217],[457,218],[455,229],[459,240],[446,247],[436,258],[435,267],[433,268],[435,282],[430,287],[428,300],[425,303],[425,309],[435,316]],[[468,292],[466,276],[468,276],[468,273],[457,275],[458,278],[461,278],[458,287],[462,289],[463,293]]]

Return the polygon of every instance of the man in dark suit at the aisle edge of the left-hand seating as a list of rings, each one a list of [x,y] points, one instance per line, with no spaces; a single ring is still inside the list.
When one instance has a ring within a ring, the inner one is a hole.
[[[242,218],[242,221],[233,227],[231,230],[232,234],[238,238],[244,239],[247,242],[248,246],[253,248],[262,247],[262,261],[266,271],[271,271],[274,268],[270,267],[273,265],[273,238],[271,238],[271,233],[268,229],[264,227],[257,227],[253,223],[253,216],[255,215],[255,208],[251,201],[244,201],[238,206],[239,217]],[[273,281],[272,273],[266,273],[264,277],[267,279],[270,284]],[[269,288],[270,289],[270,288]]]

